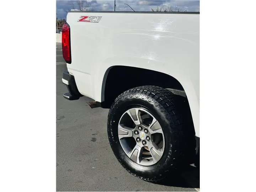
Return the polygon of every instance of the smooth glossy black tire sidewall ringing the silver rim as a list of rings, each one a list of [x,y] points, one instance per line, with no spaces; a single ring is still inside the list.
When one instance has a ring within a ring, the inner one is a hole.
[[[149,99],[149,96],[140,94],[139,97],[134,97],[133,94],[125,95],[117,102],[115,102],[110,110],[108,116],[108,135],[111,144],[111,148],[121,164],[135,175],[142,177],[154,177],[154,180],[164,177],[172,165],[175,163],[173,153],[175,144],[172,142],[175,140],[172,134],[172,122],[169,113],[153,98]],[[145,98],[143,98],[145,97]],[[142,166],[132,161],[124,152],[118,138],[118,123],[121,116],[131,108],[144,108],[150,112],[156,120],[159,122],[165,140],[165,149],[161,159],[154,165]],[[175,168],[175,166],[173,166]]]

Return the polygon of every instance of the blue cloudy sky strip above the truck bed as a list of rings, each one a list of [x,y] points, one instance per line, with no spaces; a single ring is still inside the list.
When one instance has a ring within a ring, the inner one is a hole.
[[[156,10],[156,7],[172,8],[179,7],[181,11],[198,12],[200,10],[199,0],[116,0],[116,11],[151,11]],[[73,9],[72,3],[75,9],[78,10],[76,0],[57,0],[56,1],[56,13],[58,18],[65,18],[67,11]],[[132,9],[125,5],[128,4]],[[114,0],[87,0],[84,1],[87,4],[87,9],[90,11],[114,11]]]

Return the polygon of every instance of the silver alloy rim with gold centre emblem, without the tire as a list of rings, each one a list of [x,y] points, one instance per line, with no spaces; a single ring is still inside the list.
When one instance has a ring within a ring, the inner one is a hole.
[[[123,113],[118,123],[118,138],[125,154],[139,165],[154,165],[164,152],[161,125],[144,108],[131,108]]]

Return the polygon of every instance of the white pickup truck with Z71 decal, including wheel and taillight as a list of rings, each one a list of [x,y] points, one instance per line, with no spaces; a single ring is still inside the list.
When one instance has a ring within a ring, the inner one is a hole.
[[[95,100],[92,108],[110,108],[109,142],[127,171],[157,181],[193,163],[199,12],[71,11],[62,50],[64,97],[87,96]]]

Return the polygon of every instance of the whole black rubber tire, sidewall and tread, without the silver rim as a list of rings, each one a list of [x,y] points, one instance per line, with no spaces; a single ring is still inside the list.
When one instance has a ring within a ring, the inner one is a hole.
[[[123,151],[118,139],[118,122],[130,108],[148,110],[160,123],[165,135],[162,158],[154,165],[142,166]],[[114,155],[130,174],[146,181],[158,181],[188,162],[195,149],[195,132],[188,101],[157,86],[140,86],[119,95],[108,113],[108,139]]]

